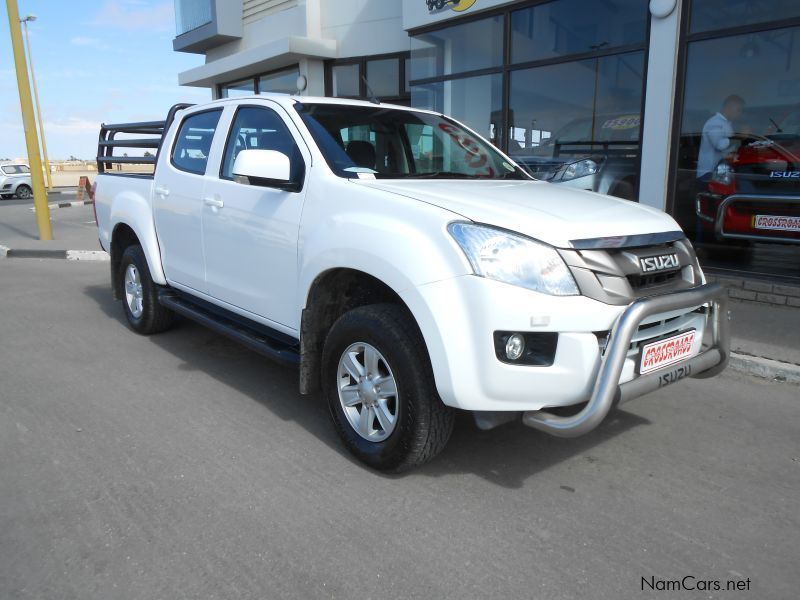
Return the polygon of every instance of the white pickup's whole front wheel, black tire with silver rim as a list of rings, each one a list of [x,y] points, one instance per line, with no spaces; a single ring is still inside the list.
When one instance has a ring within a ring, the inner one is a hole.
[[[439,398],[425,342],[399,306],[363,306],[336,321],[325,340],[322,378],[336,431],[370,467],[413,468],[450,439],[455,411]]]

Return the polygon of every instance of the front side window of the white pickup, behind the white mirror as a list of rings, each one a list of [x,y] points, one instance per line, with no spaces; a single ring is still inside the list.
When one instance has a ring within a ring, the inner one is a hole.
[[[225,157],[222,160],[220,177],[233,179],[233,165],[242,150],[276,150],[289,157],[292,163],[292,181],[303,178],[305,163],[300,149],[278,113],[260,106],[242,106],[236,111]]]

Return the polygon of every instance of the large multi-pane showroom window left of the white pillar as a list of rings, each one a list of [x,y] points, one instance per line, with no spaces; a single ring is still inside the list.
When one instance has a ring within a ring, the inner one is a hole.
[[[423,30],[412,104],[453,111],[537,177],[634,199],[647,23],[641,0],[553,0]]]

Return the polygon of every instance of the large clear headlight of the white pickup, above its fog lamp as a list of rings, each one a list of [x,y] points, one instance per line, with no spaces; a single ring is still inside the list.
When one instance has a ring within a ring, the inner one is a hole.
[[[553,296],[580,293],[558,252],[546,244],[471,223],[450,223],[447,230],[476,275]]]

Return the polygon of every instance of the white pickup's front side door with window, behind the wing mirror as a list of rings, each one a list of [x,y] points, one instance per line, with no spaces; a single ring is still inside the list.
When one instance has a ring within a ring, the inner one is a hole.
[[[203,206],[208,293],[230,307],[296,329],[297,238],[306,185],[299,192],[233,180],[244,149],[289,156],[305,183],[311,156],[294,124],[272,102],[242,104],[228,132],[219,171],[209,174]]]

